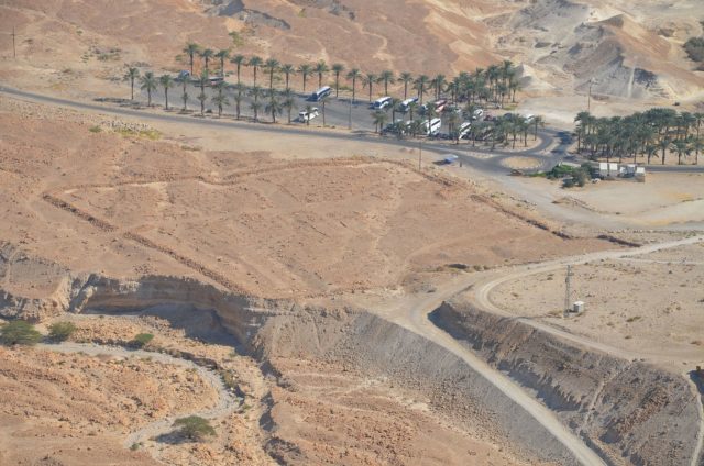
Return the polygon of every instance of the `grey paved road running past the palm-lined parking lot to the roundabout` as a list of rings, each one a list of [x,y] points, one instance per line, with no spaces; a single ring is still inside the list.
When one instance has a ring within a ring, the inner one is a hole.
[[[546,151],[553,143],[558,144],[556,149],[549,154],[541,154],[537,157],[541,164],[536,169],[550,169],[563,157],[566,145],[556,137],[558,132],[554,130],[544,130],[539,132],[540,144],[525,152],[509,152],[496,148],[495,151],[472,147],[470,143],[463,142],[460,145],[451,144],[448,142],[440,142],[437,140],[409,140],[397,138],[395,136],[380,136],[367,131],[316,131],[312,127],[305,127],[304,125],[287,125],[287,124],[270,124],[270,123],[249,123],[244,121],[237,121],[234,119],[217,119],[217,118],[197,118],[193,115],[182,115],[177,113],[154,112],[147,110],[136,110],[129,107],[117,107],[109,104],[99,104],[92,102],[66,100],[56,97],[45,96],[35,92],[23,91],[19,89],[12,89],[0,86],[0,93],[7,96],[13,96],[30,101],[36,101],[41,103],[50,103],[64,108],[87,110],[94,112],[100,112],[103,114],[114,114],[121,116],[139,118],[142,120],[154,120],[163,122],[187,123],[198,126],[221,126],[221,127],[241,127],[246,131],[270,133],[270,134],[287,134],[298,135],[302,137],[319,137],[319,138],[332,138],[340,141],[359,141],[369,142],[375,144],[386,144],[391,146],[402,146],[409,148],[418,148],[422,144],[422,149],[433,152],[437,154],[452,153],[460,157],[463,164],[471,166],[480,171],[491,175],[506,175],[509,169],[502,165],[502,160],[508,157],[517,155],[534,155]],[[473,155],[474,154],[474,155]],[[479,155],[479,156],[477,156]]]

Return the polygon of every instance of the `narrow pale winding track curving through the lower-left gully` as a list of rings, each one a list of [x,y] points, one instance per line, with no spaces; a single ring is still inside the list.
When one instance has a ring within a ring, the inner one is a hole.
[[[220,375],[217,373],[206,369],[202,366],[195,364],[191,360],[180,359],[177,357],[168,356],[162,353],[146,352],[141,350],[125,350],[119,346],[102,346],[95,344],[81,344],[81,343],[70,343],[63,342],[58,344],[41,344],[38,345],[42,350],[48,350],[57,353],[73,354],[73,353],[82,353],[88,354],[90,356],[97,355],[110,355],[110,356],[119,356],[119,357],[143,357],[151,358],[157,363],[162,364],[170,364],[175,366],[186,367],[189,369],[195,369],[198,375],[207,380],[208,384],[218,392],[218,403],[207,410],[201,410],[197,412],[190,413],[182,413],[178,415],[170,415],[164,419],[160,419],[157,421],[152,422],[151,424],[145,425],[139,431],[132,432],[123,442],[125,448],[129,448],[131,445],[140,442],[144,442],[153,436],[157,436],[167,432],[170,432],[174,421],[177,418],[185,418],[188,415],[199,415],[206,419],[213,419],[230,414],[237,408],[237,400],[228,391],[228,388],[222,382]],[[151,452],[156,458],[158,457],[158,451]]]

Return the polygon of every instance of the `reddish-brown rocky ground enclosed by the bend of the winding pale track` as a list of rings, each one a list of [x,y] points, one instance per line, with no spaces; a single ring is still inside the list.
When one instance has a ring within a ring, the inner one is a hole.
[[[152,420],[215,403],[182,367],[0,347],[0,463],[155,464],[122,446]],[[53,462],[53,463],[52,463]]]

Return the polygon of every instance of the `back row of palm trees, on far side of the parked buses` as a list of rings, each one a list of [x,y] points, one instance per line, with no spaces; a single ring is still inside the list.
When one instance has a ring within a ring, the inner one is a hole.
[[[409,96],[409,90],[418,97],[422,103],[424,96],[430,95],[439,99],[441,95],[447,93],[452,101],[470,100],[493,102],[503,107],[504,101],[510,98],[515,101],[516,92],[520,85],[516,67],[510,60],[504,60],[499,65],[491,65],[486,69],[477,68],[474,73],[460,73],[458,76],[449,79],[447,76],[439,74],[435,77],[427,75],[413,76],[410,73],[400,73],[396,76],[391,70],[376,73],[363,73],[359,68],[346,69],[344,65],[336,63],[328,65],[324,60],[316,64],[300,64],[294,66],[292,64],[282,64],[276,58],[264,59],[256,55],[244,56],[241,54],[232,55],[229,49],[213,51],[204,48],[196,43],[188,43],[183,49],[188,57],[190,74],[195,76],[197,60],[199,60],[200,71],[210,74],[213,59],[219,60],[219,69],[217,73],[224,78],[226,62],[234,66],[237,82],[242,82],[242,69],[249,67],[252,69],[252,86],[257,86],[258,71],[265,73],[268,78],[270,90],[274,89],[275,80],[282,77],[285,80],[285,89],[290,89],[292,77],[300,76],[302,81],[302,92],[306,92],[306,86],[310,77],[318,78],[318,87],[322,87],[323,79],[332,75],[336,97],[339,97],[341,89],[341,80],[346,79],[352,91],[352,100],[356,100],[358,84],[369,91],[369,100],[372,101],[374,95],[374,86],[383,86],[384,96],[388,96],[389,85],[403,85],[404,99]],[[346,73],[345,73],[346,71]]]

